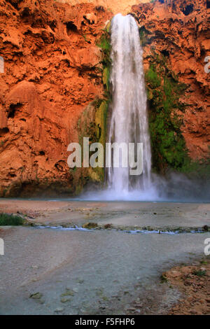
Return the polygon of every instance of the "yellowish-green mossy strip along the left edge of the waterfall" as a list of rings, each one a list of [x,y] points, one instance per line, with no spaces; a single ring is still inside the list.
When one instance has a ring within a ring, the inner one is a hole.
[[[110,70],[111,70],[111,22],[103,30],[103,34],[99,41],[97,41],[97,46],[102,50],[102,83],[104,85],[104,97],[102,99],[96,98],[91,102],[83,115],[78,120],[78,131],[79,131],[79,142],[83,145],[83,137],[89,137],[91,143],[101,143],[106,145],[106,116],[109,109],[109,102],[111,101],[110,93]],[[91,155],[91,153],[90,153]],[[87,181],[93,182],[104,182],[104,168],[88,168],[82,170],[82,175],[80,176],[80,181],[76,188],[76,193],[80,191],[80,188],[87,183]]]

